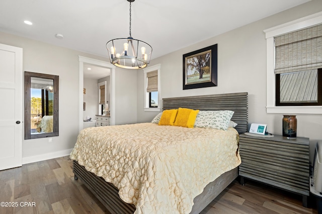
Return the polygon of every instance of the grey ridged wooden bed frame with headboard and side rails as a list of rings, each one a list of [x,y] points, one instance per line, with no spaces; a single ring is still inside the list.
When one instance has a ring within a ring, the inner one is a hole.
[[[163,98],[163,110],[189,108],[199,110],[231,110],[234,111],[232,121],[238,125],[235,129],[239,134],[248,129],[248,93],[226,93],[201,96]],[[126,203],[119,197],[118,189],[102,177],[87,171],[77,161],[73,161],[74,178],[80,178],[93,194],[108,208],[111,213],[133,213],[135,206]],[[238,167],[225,172],[210,182],[201,194],[194,198],[191,213],[199,213],[217,195],[222,192],[238,176]]]

